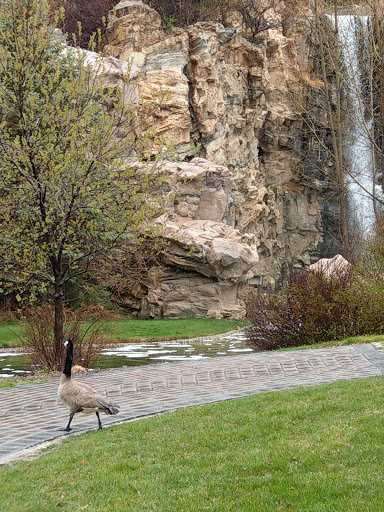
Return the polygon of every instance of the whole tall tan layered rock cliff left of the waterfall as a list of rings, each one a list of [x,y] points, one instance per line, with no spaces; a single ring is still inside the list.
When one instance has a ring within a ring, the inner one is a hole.
[[[139,0],[109,18],[107,53],[139,70],[137,107],[150,107],[158,140],[180,160],[166,166],[169,247],[137,305],[144,314],[242,317],[252,287],[308,266],[323,238],[322,185],[300,172],[303,46],[240,32],[211,22],[165,31]]]

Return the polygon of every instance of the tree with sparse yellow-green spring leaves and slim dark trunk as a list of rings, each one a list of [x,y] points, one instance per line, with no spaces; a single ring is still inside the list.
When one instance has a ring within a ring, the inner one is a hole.
[[[87,64],[48,16],[47,0],[0,0],[0,281],[20,298],[53,289],[60,365],[65,286],[162,205],[155,166],[129,164],[143,148],[129,70],[108,86],[108,61]]]

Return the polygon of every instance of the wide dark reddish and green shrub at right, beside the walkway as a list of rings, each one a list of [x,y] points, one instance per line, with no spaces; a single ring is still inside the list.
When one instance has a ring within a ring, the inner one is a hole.
[[[260,350],[383,332],[384,288],[351,269],[291,274],[280,291],[251,300],[247,316],[249,341]]]

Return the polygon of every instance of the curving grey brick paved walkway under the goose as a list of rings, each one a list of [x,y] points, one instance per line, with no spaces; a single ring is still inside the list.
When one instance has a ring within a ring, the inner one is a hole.
[[[269,352],[109,370],[76,377],[120,405],[103,425],[181,407],[265,391],[384,374],[384,353],[372,345]],[[0,390],[0,464],[25,448],[63,435],[67,409],[57,400],[58,380]],[[97,427],[77,414],[73,432]],[[67,434],[68,435],[68,434]]]

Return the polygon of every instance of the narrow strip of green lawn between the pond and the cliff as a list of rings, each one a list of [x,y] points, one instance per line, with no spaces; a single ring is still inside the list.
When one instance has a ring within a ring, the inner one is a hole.
[[[220,334],[247,325],[245,320],[214,318],[176,318],[161,320],[120,319],[103,324],[103,336],[109,341],[137,342],[173,340]],[[0,324],[0,347],[23,344],[21,323]]]

